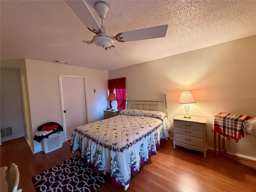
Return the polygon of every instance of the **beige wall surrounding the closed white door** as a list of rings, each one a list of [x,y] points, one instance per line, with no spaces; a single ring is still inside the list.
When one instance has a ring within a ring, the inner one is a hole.
[[[88,122],[103,119],[107,107],[108,71],[26,59],[32,132],[46,122],[62,124],[58,74],[86,76]],[[94,95],[94,88],[96,95]],[[34,152],[41,144],[34,141]]]

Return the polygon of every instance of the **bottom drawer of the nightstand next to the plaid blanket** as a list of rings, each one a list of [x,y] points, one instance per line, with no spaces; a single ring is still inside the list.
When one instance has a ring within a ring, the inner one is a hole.
[[[180,142],[199,148],[204,148],[204,139],[182,135],[178,133],[175,133],[175,142]]]

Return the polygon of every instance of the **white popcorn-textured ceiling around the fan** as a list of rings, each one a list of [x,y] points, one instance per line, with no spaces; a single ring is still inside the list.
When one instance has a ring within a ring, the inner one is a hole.
[[[94,10],[97,0],[86,1]],[[248,0],[106,0],[108,34],[168,24],[164,38],[117,42],[122,59],[103,48],[81,43],[94,33],[62,0],[0,1],[1,59],[28,58],[112,70],[252,36],[256,34],[256,1]],[[76,43],[74,43],[76,42]],[[54,65],[54,63],[53,63]]]

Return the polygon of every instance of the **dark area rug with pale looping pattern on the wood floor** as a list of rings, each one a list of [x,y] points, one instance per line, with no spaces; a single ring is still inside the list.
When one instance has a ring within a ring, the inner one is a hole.
[[[106,176],[94,172],[78,156],[74,156],[32,177],[36,192],[94,192]]]

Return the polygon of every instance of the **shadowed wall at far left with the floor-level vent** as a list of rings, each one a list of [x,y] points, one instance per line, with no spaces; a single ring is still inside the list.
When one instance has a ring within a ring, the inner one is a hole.
[[[1,69],[1,129],[12,127],[12,135],[2,142],[24,136],[19,71]]]

